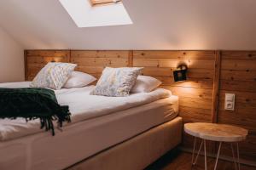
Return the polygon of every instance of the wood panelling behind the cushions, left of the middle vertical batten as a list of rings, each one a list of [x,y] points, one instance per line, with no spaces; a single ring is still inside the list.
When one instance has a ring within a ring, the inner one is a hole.
[[[96,50],[26,50],[26,80],[32,80],[44,65],[50,61],[75,63],[77,71],[87,72],[100,77],[106,66],[131,66],[130,51],[96,51]]]

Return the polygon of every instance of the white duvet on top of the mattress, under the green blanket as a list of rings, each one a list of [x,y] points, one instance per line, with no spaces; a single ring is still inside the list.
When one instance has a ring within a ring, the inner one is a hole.
[[[1,83],[0,88],[28,88],[29,83]],[[131,94],[128,97],[105,97],[90,95],[90,91],[93,88],[94,86],[55,90],[59,104],[69,106],[69,110],[72,113],[72,123],[82,122],[117,111],[124,111],[131,107],[145,105],[172,95],[169,90],[158,88],[150,93]],[[26,122],[22,118],[16,120],[0,119],[0,140],[15,139],[44,131],[39,127],[38,120]]]

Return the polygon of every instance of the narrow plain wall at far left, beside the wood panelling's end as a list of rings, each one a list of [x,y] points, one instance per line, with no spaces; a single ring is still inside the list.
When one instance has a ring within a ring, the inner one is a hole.
[[[0,82],[24,81],[24,50],[0,27]]]

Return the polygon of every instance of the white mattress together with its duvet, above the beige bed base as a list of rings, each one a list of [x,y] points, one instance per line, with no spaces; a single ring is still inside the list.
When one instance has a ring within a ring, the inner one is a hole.
[[[8,87],[25,88],[26,83],[22,84]],[[1,132],[9,134],[0,142],[0,169],[62,169],[177,116],[177,96],[163,89],[151,94],[132,94],[129,99],[95,96],[99,97],[96,102],[88,95],[92,88],[55,92],[61,105],[68,103],[75,113],[73,123],[57,130],[55,137],[38,130],[37,121],[24,124],[16,120],[10,125],[3,120],[5,127]],[[82,98],[83,95],[89,99]],[[90,104],[84,105],[81,99]],[[88,111],[83,111],[84,108]]]

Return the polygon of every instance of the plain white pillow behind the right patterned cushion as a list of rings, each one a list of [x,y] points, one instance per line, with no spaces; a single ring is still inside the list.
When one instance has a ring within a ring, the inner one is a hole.
[[[131,88],[132,94],[137,93],[148,93],[158,88],[162,82],[154,77],[148,76],[138,76],[137,82],[135,83],[134,87]]]

